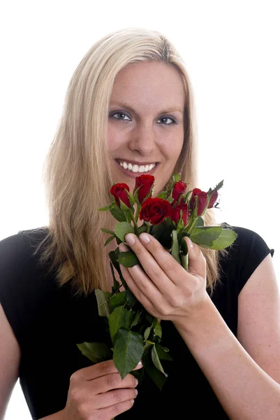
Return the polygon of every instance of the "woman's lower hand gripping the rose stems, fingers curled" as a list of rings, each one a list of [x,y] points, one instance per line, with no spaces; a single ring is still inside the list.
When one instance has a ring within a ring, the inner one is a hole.
[[[113,360],[77,370],[70,378],[61,420],[111,420],[133,406],[137,384],[133,374],[121,380]]]

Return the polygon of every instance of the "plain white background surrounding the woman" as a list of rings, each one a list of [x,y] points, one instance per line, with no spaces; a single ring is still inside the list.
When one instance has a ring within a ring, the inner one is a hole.
[[[277,6],[267,0],[3,2],[0,240],[47,224],[43,160],[84,54],[111,31],[145,27],[175,43],[191,76],[198,188],[224,180],[218,221],[258,232],[275,249],[280,279]],[[17,382],[5,419],[19,418],[31,416]]]

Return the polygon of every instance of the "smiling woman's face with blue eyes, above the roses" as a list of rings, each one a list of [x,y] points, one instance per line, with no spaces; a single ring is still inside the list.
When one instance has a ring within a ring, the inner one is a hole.
[[[138,62],[119,71],[108,119],[114,183],[126,183],[132,193],[136,176],[152,174],[154,197],[159,195],[173,174],[182,150],[184,100],[179,73],[168,64]],[[121,167],[122,162],[127,169]],[[154,163],[152,170],[138,172]]]

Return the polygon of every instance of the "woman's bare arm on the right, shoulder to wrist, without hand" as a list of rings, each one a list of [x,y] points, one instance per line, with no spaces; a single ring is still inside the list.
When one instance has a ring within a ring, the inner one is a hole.
[[[240,342],[210,298],[174,324],[230,419],[279,420],[280,299],[271,255],[242,289],[238,316]]]

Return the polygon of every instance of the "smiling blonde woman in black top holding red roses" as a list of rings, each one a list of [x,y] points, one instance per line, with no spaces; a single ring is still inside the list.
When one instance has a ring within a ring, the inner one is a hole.
[[[198,187],[193,94],[164,36],[123,29],[98,41],[71,79],[45,162],[49,226],[0,242],[0,414],[20,377],[33,419],[279,419],[274,250],[251,230],[232,227],[237,240],[224,251],[189,242],[189,272],[151,235],[134,244],[126,235],[143,268],[121,271],[162,320],[173,358],[162,391],[147,375],[138,386],[133,374],[121,381],[112,360],[92,365],[78,350],[105,337],[94,289],[112,286],[117,244],[103,247],[101,227],[116,221],[98,208],[113,182],[132,189],[143,169],[154,196],[177,172]],[[211,209],[203,218],[216,224]]]

